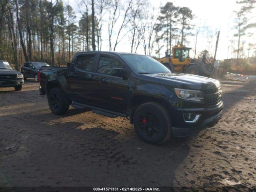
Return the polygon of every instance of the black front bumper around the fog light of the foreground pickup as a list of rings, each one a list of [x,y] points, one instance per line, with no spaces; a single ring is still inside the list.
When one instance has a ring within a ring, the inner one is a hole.
[[[223,103],[211,108],[193,108],[193,109],[175,109],[172,113],[172,136],[186,137],[193,135],[207,126],[214,126],[220,120],[222,115]],[[199,120],[195,123],[187,123],[183,114],[201,114]]]

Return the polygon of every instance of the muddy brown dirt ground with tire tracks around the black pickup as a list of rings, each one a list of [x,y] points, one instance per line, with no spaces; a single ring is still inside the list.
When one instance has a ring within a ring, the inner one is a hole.
[[[256,83],[221,83],[220,122],[158,146],[126,118],[52,114],[32,80],[0,88],[0,186],[256,187]]]

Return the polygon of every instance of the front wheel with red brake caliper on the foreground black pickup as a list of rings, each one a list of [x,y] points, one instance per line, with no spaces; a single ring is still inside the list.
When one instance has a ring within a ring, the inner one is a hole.
[[[172,133],[170,114],[157,102],[141,104],[134,113],[134,128],[145,142],[160,144],[170,139]]]

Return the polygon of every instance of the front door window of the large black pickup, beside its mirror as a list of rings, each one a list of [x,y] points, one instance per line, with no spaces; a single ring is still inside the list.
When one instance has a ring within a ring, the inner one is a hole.
[[[124,69],[124,66],[114,58],[108,56],[100,56],[97,72],[111,75],[113,68]]]

